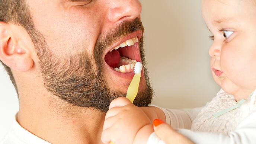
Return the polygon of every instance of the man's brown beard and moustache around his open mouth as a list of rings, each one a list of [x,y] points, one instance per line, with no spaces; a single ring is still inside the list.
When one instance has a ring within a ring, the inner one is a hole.
[[[75,106],[95,108],[107,112],[111,101],[125,96],[118,90],[110,89],[103,77],[103,50],[117,39],[132,32],[144,32],[140,19],[133,22],[123,22],[116,29],[100,35],[94,49],[93,56],[86,51],[74,55],[53,54],[45,42],[44,36],[38,31],[31,33],[36,47],[42,77],[46,89],[60,99]],[[137,106],[148,106],[151,103],[153,90],[145,67],[143,36],[139,41],[141,61],[144,66],[146,87],[139,92],[134,100]]]

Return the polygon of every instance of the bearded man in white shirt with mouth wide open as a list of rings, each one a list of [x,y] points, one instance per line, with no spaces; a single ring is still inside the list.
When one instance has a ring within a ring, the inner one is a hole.
[[[138,0],[0,0],[0,60],[19,96],[3,144],[100,144],[110,102],[144,65]]]

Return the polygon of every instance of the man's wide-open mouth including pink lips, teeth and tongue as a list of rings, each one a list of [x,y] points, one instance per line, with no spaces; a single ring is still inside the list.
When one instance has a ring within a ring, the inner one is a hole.
[[[111,75],[126,79],[133,77],[135,63],[141,62],[139,47],[141,36],[142,31],[133,32],[108,48],[111,50],[105,54],[104,59],[107,69],[113,72]]]

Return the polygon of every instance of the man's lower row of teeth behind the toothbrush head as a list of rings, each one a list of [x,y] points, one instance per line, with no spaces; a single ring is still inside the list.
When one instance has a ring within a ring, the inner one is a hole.
[[[131,60],[127,57],[120,57],[120,61],[118,64],[119,68],[116,67],[114,68],[114,70],[121,73],[131,73],[136,63],[136,60]]]

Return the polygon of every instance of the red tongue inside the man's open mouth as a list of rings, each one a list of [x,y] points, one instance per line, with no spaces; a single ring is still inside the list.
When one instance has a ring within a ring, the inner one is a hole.
[[[119,52],[115,49],[112,52],[108,52],[105,56],[105,61],[110,67],[116,68],[120,61]]]

